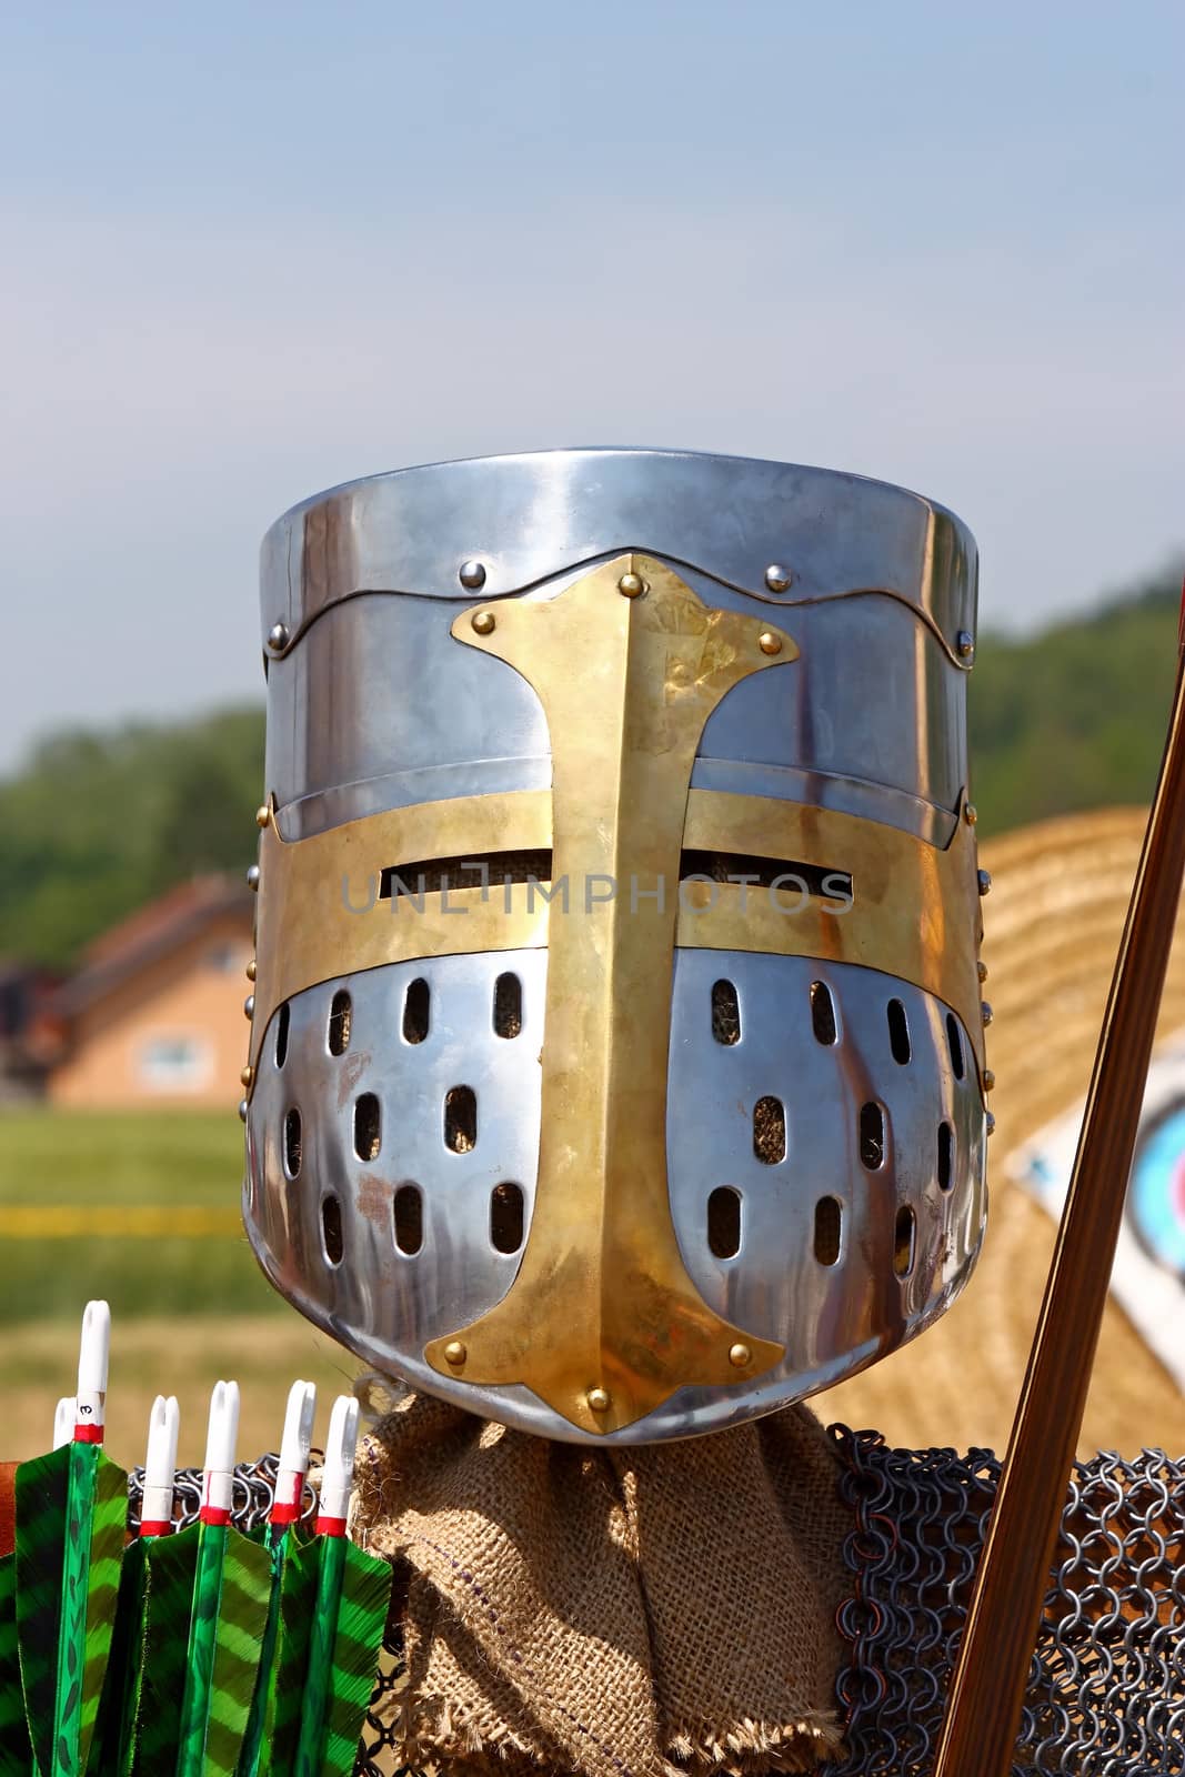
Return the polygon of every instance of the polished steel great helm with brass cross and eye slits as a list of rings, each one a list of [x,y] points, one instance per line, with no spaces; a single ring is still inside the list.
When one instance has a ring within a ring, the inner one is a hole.
[[[954,1299],[984,1223],[975,547],[824,469],[377,474],[263,546],[245,1223],[370,1365],[707,1432]]]

